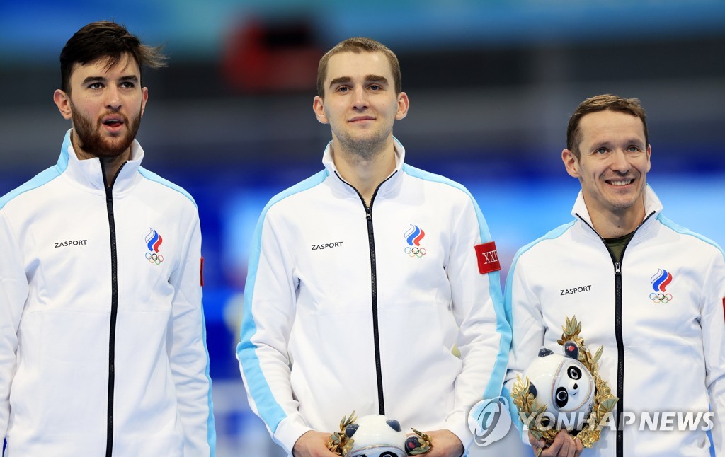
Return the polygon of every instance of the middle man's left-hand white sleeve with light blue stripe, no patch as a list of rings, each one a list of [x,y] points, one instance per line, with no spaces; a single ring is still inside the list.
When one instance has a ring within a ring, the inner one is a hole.
[[[310,430],[292,395],[287,352],[297,280],[269,206],[254,232],[236,356],[249,406],[265,422],[273,440],[291,454],[297,439]]]

